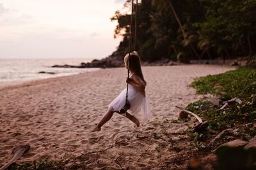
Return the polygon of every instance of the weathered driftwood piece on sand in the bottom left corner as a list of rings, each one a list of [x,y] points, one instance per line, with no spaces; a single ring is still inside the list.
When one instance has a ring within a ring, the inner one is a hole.
[[[13,164],[14,162],[16,162],[16,160],[20,159],[20,157],[22,157],[22,155],[24,153],[26,153],[29,150],[30,146],[29,145],[20,145],[17,148],[14,148],[12,153],[13,158],[11,160],[9,160],[9,162],[7,164],[5,164],[3,167],[1,167],[0,170],[4,170],[7,169],[11,164]]]

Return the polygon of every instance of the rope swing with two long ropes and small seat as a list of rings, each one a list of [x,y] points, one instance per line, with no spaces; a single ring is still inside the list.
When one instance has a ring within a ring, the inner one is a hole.
[[[131,24],[130,24],[130,39],[129,39],[129,59],[128,59],[128,71],[127,71],[127,77],[129,78],[129,74],[130,74],[130,57],[131,57],[131,41],[132,41],[132,18],[133,18],[133,3],[134,0],[132,0],[132,13],[131,13]],[[137,13],[138,13],[138,0],[136,0],[136,9],[135,9],[135,24],[134,24],[134,51],[136,50],[136,39],[137,39],[137,34],[136,34],[136,30],[137,30]],[[129,110],[130,108],[130,103],[128,101],[128,85],[129,83],[127,83],[127,88],[126,88],[126,99],[125,99],[125,106],[120,110],[120,113],[125,114],[125,112],[127,110]]]

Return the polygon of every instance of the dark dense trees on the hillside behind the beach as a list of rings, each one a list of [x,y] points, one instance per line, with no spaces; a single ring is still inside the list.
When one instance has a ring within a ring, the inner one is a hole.
[[[131,9],[131,2],[125,3],[125,9]],[[255,15],[255,0],[142,0],[138,6],[137,50],[149,62],[253,55]],[[124,38],[118,50],[125,52],[130,17],[130,13],[116,11],[111,18],[118,22],[115,37]]]

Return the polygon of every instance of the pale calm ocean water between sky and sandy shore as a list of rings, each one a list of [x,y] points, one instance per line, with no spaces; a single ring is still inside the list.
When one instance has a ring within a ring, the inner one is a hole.
[[[92,59],[0,59],[0,83],[10,81],[36,80],[96,71],[99,68],[56,68],[53,65],[80,65]],[[38,72],[53,72],[40,74]]]

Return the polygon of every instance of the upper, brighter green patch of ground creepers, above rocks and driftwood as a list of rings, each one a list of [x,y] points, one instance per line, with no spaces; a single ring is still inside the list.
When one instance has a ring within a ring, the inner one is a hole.
[[[241,67],[224,74],[198,78],[191,83],[198,94],[214,94],[224,99],[247,99],[256,94],[256,69]]]

